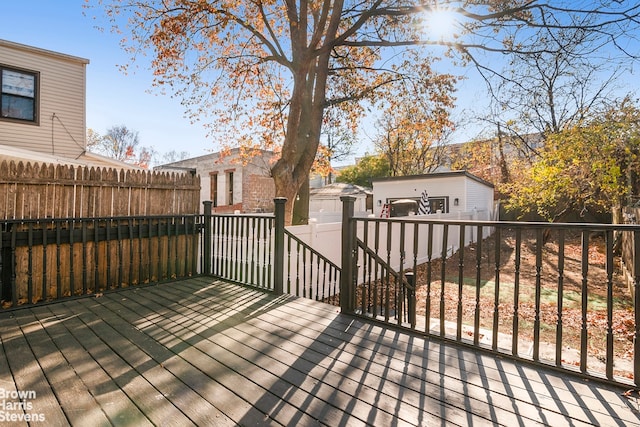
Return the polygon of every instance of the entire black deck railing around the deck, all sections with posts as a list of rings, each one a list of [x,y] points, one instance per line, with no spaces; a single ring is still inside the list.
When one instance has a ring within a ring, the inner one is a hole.
[[[215,275],[496,355],[640,386],[640,225],[355,218],[341,266],[275,214],[0,222],[3,308]],[[337,246],[337,245],[336,245]],[[633,279],[629,282],[626,273]],[[339,285],[339,286],[338,286]]]

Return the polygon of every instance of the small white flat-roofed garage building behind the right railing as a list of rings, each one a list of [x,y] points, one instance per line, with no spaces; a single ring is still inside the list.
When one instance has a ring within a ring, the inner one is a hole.
[[[484,212],[489,219],[493,212],[493,184],[466,171],[374,178],[372,183],[373,213],[377,217],[385,205],[395,201],[419,202],[425,191],[431,213]]]

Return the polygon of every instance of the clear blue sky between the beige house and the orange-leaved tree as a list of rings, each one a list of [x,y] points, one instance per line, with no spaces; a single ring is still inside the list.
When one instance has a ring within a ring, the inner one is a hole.
[[[180,100],[148,93],[151,73],[143,69],[123,74],[119,64],[128,56],[119,37],[101,32],[84,0],[21,0],[0,2],[0,39],[89,59],[87,66],[87,127],[104,134],[125,125],[139,133],[140,144],[160,153],[188,151],[192,156],[215,150],[202,124],[184,118]]]

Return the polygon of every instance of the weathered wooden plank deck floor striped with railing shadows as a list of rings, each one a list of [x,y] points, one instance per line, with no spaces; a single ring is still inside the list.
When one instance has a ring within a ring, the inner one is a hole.
[[[207,278],[2,313],[0,337],[0,417],[31,425],[640,425],[636,392]]]

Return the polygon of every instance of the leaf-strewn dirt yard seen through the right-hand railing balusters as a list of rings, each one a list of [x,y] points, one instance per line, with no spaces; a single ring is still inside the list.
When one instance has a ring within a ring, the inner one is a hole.
[[[428,264],[421,265],[417,273],[418,315],[424,316],[429,305],[431,311],[429,317],[438,319],[440,307],[444,307],[444,318],[455,322],[458,310],[461,309],[463,323],[473,325],[478,290],[476,266],[479,266],[478,306],[482,328],[491,330],[493,327],[497,288],[499,332],[513,334],[514,312],[517,307],[518,339],[532,340],[533,319],[536,314],[536,283],[539,282],[541,342],[555,347],[558,306],[562,304],[563,351],[574,349],[575,352],[575,349],[578,349],[579,354],[583,326],[582,306],[586,304],[588,354],[604,362],[608,330],[607,301],[610,293],[613,296],[611,327],[614,337],[614,361],[632,359],[635,327],[632,297],[622,273],[619,257],[614,257],[613,268],[610,272],[607,271],[606,245],[603,235],[593,235],[589,239],[587,269],[582,267],[583,250],[581,236],[578,233],[565,236],[564,256],[559,255],[561,248],[558,236],[551,235],[542,248],[539,261],[536,254],[536,235],[533,232],[522,234],[519,257],[517,257],[515,232],[502,233],[499,255],[496,254],[495,240],[496,236],[493,235],[481,242],[480,256],[478,256],[478,245],[466,247],[463,251],[463,268],[460,267],[459,252],[445,262],[444,269],[440,260],[431,262],[430,272]],[[516,262],[518,259],[519,262]],[[460,297],[458,282],[461,271],[463,286]],[[431,287],[428,293],[426,283],[429,273]],[[440,291],[443,276],[444,297]],[[587,289],[584,301],[583,286]],[[562,298],[559,297],[560,295]],[[459,300],[461,307],[458,304]],[[563,362],[577,364],[575,358],[570,357]],[[622,364],[617,363],[617,365]],[[631,375],[624,369],[618,369],[616,373],[627,377]]]

